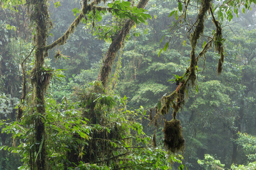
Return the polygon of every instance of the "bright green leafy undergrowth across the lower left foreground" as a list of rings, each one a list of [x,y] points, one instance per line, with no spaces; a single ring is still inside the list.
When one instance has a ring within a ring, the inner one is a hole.
[[[100,103],[109,103],[109,101],[114,102],[108,104],[109,107],[113,108],[113,105],[121,105],[121,109],[115,110],[105,110],[101,108],[102,114],[108,118],[108,122],[105,121],[105,125],[99,124],[88,124],[89,120],[82,118],[82,110],[78,103],[71,103],[66,97],[63,98],[61,103],[56,103],[55,100],[51,98],[51,95],[48,95],[46,99],[46,115],[44,116],[44,125],[46,127],[47,138],[50,138],[47,142],[47,159],[48,164],[51,168],[64,168],[63,165],[68,162],[68,153],[72,148],[77,148],[76,152],[82,158],[82,160],[88,159],[88,148],[90,148],[93,138],[97,138],[97,143],[105,141],[104,138],[101,139],[101,131],[110,135],[107,143],[105,145],[109,146],[112,149],[112,154],[109,158],[109,153],[106,152],[106,148],[100,148],[98,146],[98,151],[102,152],[101,156],[106,156],[105,159],[97,158],[98,160],[103,160],[102,163],[90,164],[86,162],[80,162],[79,167],[85,167],[85,169],[102,168],[106,169],[111,167],[116,167],[117,165],[120,168],[131,168],[133,169],[148,169],[152,166],[156,168],[168,169],[170,166],[170,160],[174,162],[180,162],[176,158],[170,157],[166,159],[166,152],[160,148],[153,150],[150,146],[151,139],[143,133],[141,124],[137,120],[140,114],[145,114],[143,108],[136,111],[129,111],[125,108],[125,100],[127,98],[120,98],[119,96],[110,96],[97,95],[97,99],[94,102]],[[22,121],[20,122],[11,122],[6,121],[1,122],[1,126],[4,126],[2,132],[13,133],[13,138],[15,142],[14,147],[10,146],[1,146],[1,149],[9,150],[11,152],[17,153],[23,157],[22,161],[24,165],[19,169],[26,169],[31,166],[31,156],[40,156],[32,154],[31,150],[35,147],[34,142],[34,128],[29,128],[27,125],[28,121],[34,120],[35,117],[40,116],[40,114],[34,112],[31,114],[33,107],[27,106],[27,114],[24,114]],[[108,112],[107,112],[108,111]],[[128,121],[130,119],[130,121]],[[141,119],[141,118],[139,118]],[[112,127],[115,127],[114,129]],[[115,131],[115,129],[119,129]],[[97,136],[94,136],[93,133],[97,133]],[[116,134],[118,133],[118,134]],[[119,139],[117,138],[119,135]],[[121,137],[121,138],[120,138]],[[17,140],[17,139],[22,139]],[[23,139],[25,139],[23,141]],[[102,141],[101,141],[102,140]],[[102,149],[102,150],[101,150]],[[182,158],[181,158],[182,159]],[[106,166],[105,162],[112,162]],[[72,166],[73,167],[73,166]]]

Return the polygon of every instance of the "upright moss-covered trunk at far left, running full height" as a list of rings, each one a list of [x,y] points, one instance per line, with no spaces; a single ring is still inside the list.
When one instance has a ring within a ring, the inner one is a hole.
[[[48,35],[48,6],[47,0],[38,0],[33,3],[34,13],[31,14],[31,19],[35,21],[36,26],[36,50],[35,50],[35,66],[32,70],[31,83],[33,86],[35,112],[38,116],[35,117],[35,136],[36,136],[36,169],[48,169],[46,163],[46,131],[44,127],[44,114],[46,112],[44,104],[44,92],[48,84],[42,80],[42,67],[44,65],[46,40]]]

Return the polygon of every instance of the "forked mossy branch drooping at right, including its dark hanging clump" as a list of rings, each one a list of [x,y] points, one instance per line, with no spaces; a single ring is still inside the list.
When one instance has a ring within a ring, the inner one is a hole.
[[[164,95],[161,99],[161,108],[160,111],[158,107],[155,107],[155,116],[152,118],[152,113],[150,113],[151,120],[150,124],[152,122],[157,122],[159,120],[159,116],[163,116],[164,120],[164,146],[168,149],[168,151],[171,152],[177,152],[177,151],[183,151],[184,150],[184,138],[182,136],[182,128],[180,126],[180,121],[176,120],[176,114],[181,109],[182,105],[185,103],[185,93],[187,94],[187,88],[189,87],[189,84],[191,83],[192,86],[196,83],[196,66],[197,62],[202,56],[205,56],[205,53],[212,47],[212,43],[214,42],[214,47],[220,54],[220,59],[218,62],[218,74],[221,73],[222,70],[222,63],[224,62],[224,47],[223,47],[223,41],[222,39],[222,30],[220,23],[214,18],[213,11],[211,6],[211,0],[202,0],[201,3],[201,9],[199,12],[199,15],[197,16],[197,22],[196,22],[196,28],[195,31],[191,34],[191,64],[188,67],[186,73],[184,74],[184,80],[183,82],[180,82],[176,90],[172,92],[170,95],[166,96]],[[185,10],[187,8],[185,7]],[[199,53],[199,55],[196,57],[196,45],[197,41],[200,38],[200,35],[204,32],[204,20],[205,16],[207,15],[207,11],[210,10],[212,17],[213,17],[213,23],[216,26],[216,32],[213,35],[213,38],[207,42],[207,44],[204,45],[203,50]],[[173,119],[171,121],[166,121],[164,118],[164,114],[167,114],[170,109],[170,105],[173,108]],[[150,110],[151,111],[151,110]],[[148,124],[148,125],[150,125]],[[158,124],[155,124],[156,128]],[[154,139],[154,137],[153,137]],[[155,139],[153,140],[153,146],[155,147]]]

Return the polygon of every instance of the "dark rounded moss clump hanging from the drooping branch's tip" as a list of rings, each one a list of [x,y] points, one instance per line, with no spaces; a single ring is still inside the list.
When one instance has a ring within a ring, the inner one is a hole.
[[[185,149],[185,139],[182,135],[180,121],[173,119],[164,122],[164,147],[171,152],[183,152]]]

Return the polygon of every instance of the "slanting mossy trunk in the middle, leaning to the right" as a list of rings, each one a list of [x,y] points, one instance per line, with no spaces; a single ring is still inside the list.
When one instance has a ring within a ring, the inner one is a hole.
[[[144,8],[148,0],[139,1],[137,8]],[[125,37],[130,32],[130,29],[135,24],[134,20],[128,19],[123,25],[121,31],[117,33],[115,39],[112,41],[112,44],[109,46],[108,52],[105,54],[100,73],[98,74],[97,80],[100,80],[104,87],[107,86],[109,81],[109,75],[111,74],[112,65],[114,63],[115,57],[117,57],[118,50],[123,45]]]

